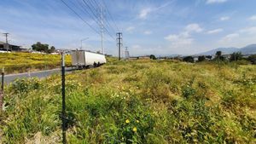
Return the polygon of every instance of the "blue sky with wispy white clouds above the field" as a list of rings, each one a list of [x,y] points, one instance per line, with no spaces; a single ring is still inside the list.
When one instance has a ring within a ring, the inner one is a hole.
[[[89,37],[83,49],[101,50],[101,28],[93,14],[85,13],[90,9],[83,2],[93,0],[63,1],[80,18],[61,0],[0,0],[0,32],[9,32],[9,43],[25,48],[41,42],[56,49],[79,49],[81,39]],[[116,32],[123,33],[123,48],[134,56],[194,55],[256,43],[255,0],[103,1],[103,47],[110,55],[118,54]],[[0,41],[4,39],[0,35]]]

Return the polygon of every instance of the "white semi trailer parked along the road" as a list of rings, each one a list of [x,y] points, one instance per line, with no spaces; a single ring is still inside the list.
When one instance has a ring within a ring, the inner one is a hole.
[[[73,50],[71,52],[72,66],[79,68],[100,66],[107,62],[105,55],[85,50]]]

